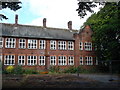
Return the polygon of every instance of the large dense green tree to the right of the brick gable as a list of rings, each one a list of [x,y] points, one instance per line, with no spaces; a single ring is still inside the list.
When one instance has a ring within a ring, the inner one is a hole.
[[[84,23],[94,32],[92,39],[97,47],[98,60],[120,60],[119,3],[106,3]]]

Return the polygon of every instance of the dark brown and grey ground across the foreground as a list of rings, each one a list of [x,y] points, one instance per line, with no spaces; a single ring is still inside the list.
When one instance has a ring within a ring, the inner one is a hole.
[[[15,78],[15,79],[14,79]],[[23,77],[4,76],[3,88],[108,88],[120,89],[120,79],[102,74],[43,74]]]

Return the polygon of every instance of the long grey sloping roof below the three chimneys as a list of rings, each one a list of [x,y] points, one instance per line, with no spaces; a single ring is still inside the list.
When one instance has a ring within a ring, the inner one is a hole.
[[[77,30],[68,30],[60,28],[44,28],[41,26],[28,26],[0,23],[0,36],[25,37],[25,38],[42,38],[42,39],[59,39],[74,40],[73,34]]]

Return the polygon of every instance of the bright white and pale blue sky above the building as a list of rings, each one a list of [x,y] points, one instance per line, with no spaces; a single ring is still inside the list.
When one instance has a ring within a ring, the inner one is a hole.
[[[4,9],[0,13],[5,14],[9,19],[4,23],[14,23],[15,14],[18,14],[19,24],[42,26],[43,18],[47,19],[47,27],[66,28],[67,22],[72,21],[72,28],[79,30],[88,15],[81,19],[76,9],[77,0],[21,0],[22,8],[16,12]],[[98,7],[99,8],[99,7]],[[95,8],[95,11],[99,9]]]

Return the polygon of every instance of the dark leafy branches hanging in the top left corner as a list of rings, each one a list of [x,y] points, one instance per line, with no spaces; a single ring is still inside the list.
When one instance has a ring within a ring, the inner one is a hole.
[[[19,5],[21,2],[1,2],[0,5],[2,5],[2,9],[10,8],[13,11],[17,11],[18,9],[21,8]],[[0,19],[8,19],[5,15],[0,14]]]

